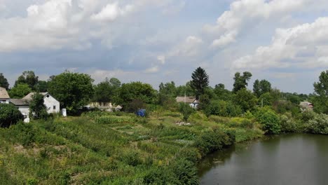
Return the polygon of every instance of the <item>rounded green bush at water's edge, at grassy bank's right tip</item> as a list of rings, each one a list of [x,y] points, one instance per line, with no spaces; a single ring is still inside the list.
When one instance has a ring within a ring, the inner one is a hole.
[[[262,124],[264,132],[268,135],[278,135],[281,131],[280,118],[278,114],[268,107],[260,108],[255,114],[257,121]]]

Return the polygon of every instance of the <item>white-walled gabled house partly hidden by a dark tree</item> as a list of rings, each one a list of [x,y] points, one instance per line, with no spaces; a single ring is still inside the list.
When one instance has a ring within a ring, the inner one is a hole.
[[[29,93],[22,100],[30,102],[32,100],[32,96],[35,93]],[[44,105],[47,107],[48,114],[51,113],[60,113],[60,102],[58,102],[55,97],[51,96],[49,93],[40,93],[43,95]]]

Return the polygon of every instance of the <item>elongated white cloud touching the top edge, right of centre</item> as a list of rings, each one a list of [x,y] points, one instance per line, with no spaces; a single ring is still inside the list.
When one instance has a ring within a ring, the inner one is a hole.
[[[280,22],[293,12],[306,10],[313,6],[313,1],[298,0],[240,0],[230,5],[218,19],[216,25],[205,25],[203,32],[215,39],[212,46],[223,47],[236,41],[247,27],[254,27],[264,21]],[[315,3],[316,4],[316,3]],[[219,39],[217,39],[219,38]]]

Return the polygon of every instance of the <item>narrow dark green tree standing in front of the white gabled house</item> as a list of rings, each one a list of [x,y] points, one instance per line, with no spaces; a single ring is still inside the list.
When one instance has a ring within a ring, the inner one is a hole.
[[[29,116],[35,119],[45,119],[48,117],[43,95],[40,93],[32,95],[32,101],[29,102]]]

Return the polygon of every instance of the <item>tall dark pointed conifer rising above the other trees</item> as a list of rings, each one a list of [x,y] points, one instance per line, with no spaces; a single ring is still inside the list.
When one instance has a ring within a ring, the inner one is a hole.
[[[200,95],[204,94],[205,88],[207,88],[208,84],[210,83],[210,78],[206,71],[201,67],[198,67],[195,71],[193,71],[191,78],[191,88],[195,90],[196,100],[199,100]]]

